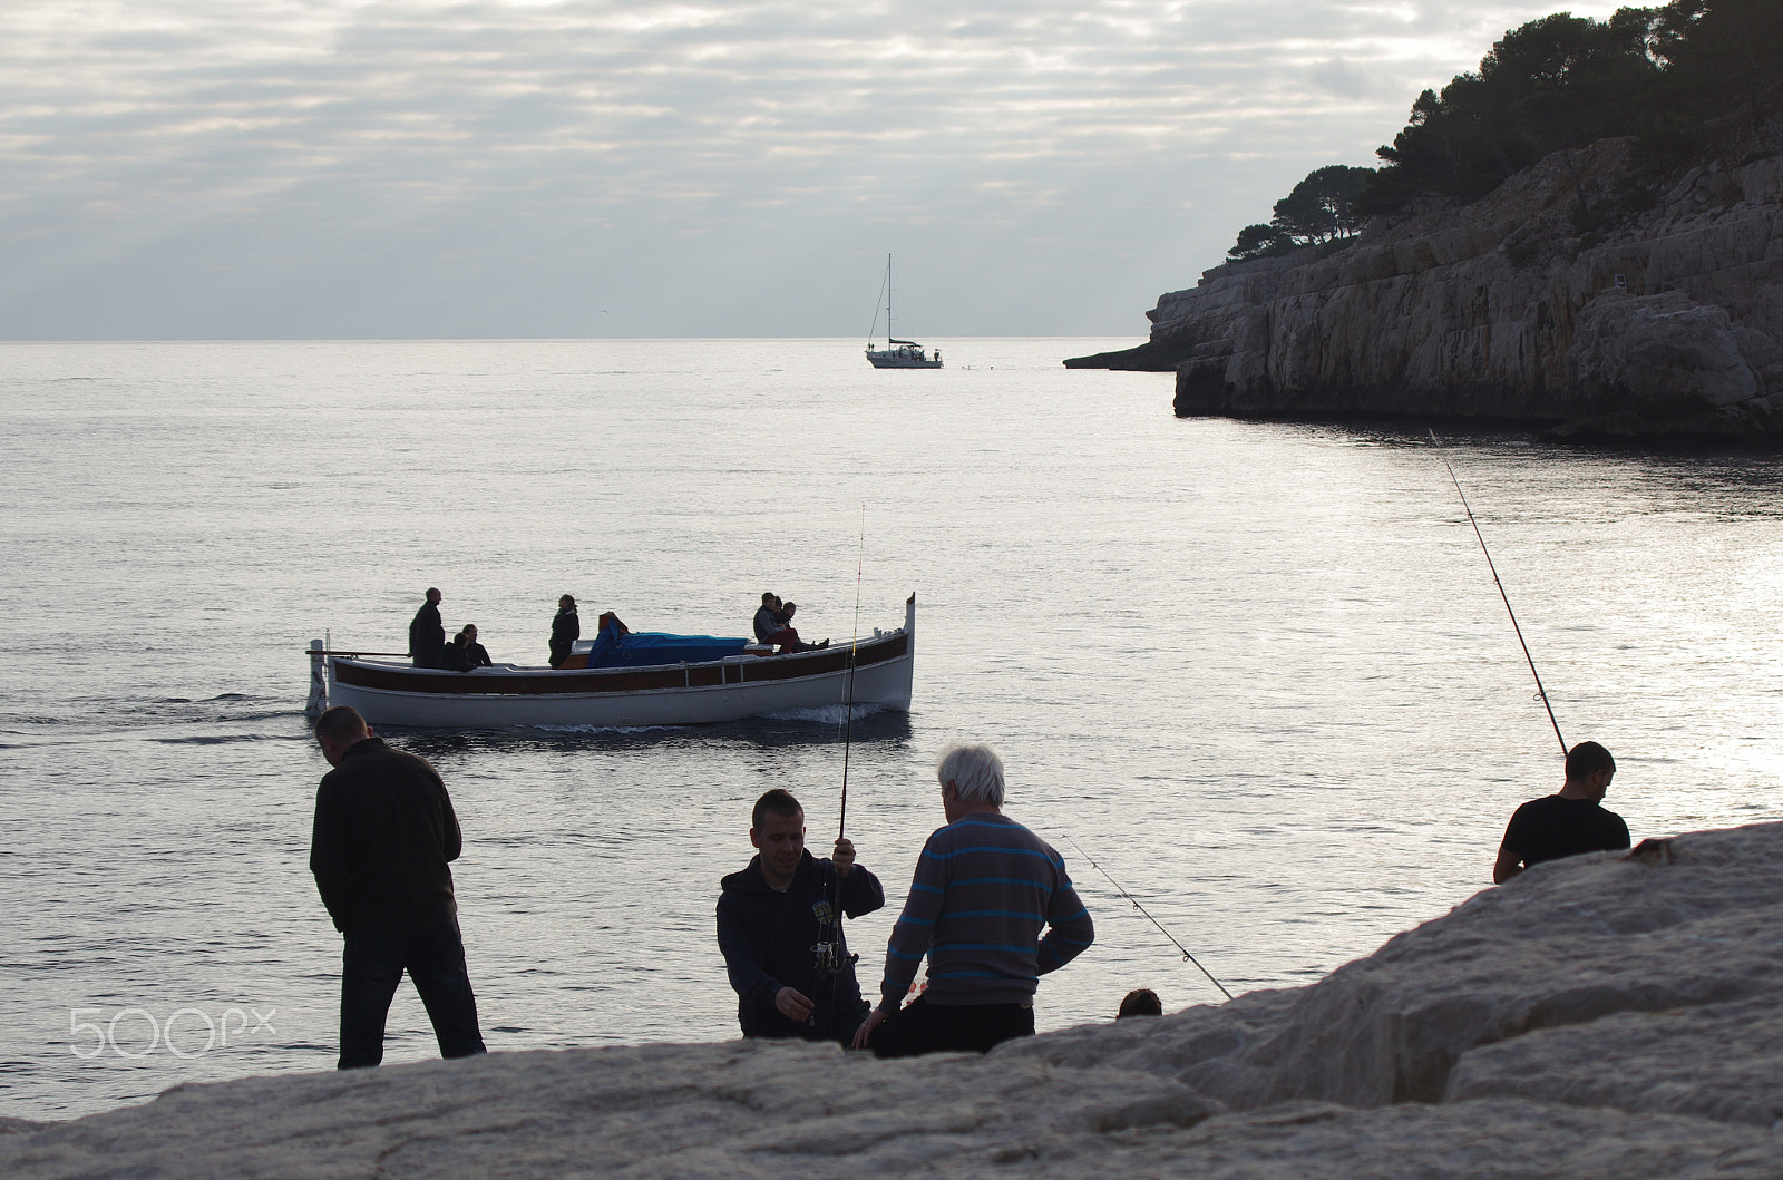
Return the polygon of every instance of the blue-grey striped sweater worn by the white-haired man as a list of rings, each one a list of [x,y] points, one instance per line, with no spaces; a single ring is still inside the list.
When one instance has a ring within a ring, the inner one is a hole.
[[[922,847],[886,948],[883,1007],[904,1000],[924,955],[931,1004],[1027,1004],[1038,977],[1095,936],[1064,859],[1009,816],[974,811]]]

